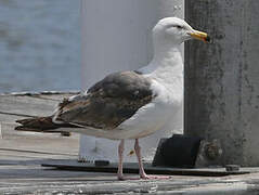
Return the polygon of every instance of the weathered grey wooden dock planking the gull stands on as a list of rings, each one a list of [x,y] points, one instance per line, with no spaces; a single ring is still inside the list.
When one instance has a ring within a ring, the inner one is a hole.
[[[64,95],[0,95],[0,194],[259,194],[257,168],[243,168],[251,173],[226,177],[117,181],[116,173],[42,167],[53,159],[76,161],[79,135],[17,132],[14,121],[49,114]]]

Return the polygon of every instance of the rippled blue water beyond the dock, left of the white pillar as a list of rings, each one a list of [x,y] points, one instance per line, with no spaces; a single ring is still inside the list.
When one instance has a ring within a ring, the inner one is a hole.
[[[0,93],[80,89],[80,0],[0,0]]]

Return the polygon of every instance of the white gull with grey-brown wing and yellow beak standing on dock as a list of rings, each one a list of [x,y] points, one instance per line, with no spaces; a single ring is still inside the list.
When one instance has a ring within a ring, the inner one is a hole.
[[[51,116],[17,120],[16,130],[38,132],[78,132],[119,140],[118,180],[122,173],[125,140],[134,139],[140,179],[143,168],[139,139],[159,130],[171,120],[183,99],[183,62],[180,46],[189,39],[209,42],[206,32],[193,29],[178,17],[160,20],[153,28],[154,56],[138,70],[107,75],[85,93],[64,99]]]

